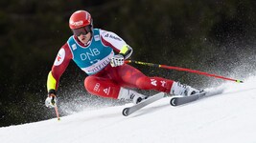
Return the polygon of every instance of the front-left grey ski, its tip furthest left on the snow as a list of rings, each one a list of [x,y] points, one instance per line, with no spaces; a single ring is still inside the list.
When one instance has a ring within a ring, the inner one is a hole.
[[[156,94],[152,95],[151,97],[149,97],[148,99],[145,99],[144,101],[142,101],[138,104],[135,104],[131,107],[125,108],[122,113],[123,113],[123,115],[128,116],[129,114],[136,112],[136,111],[144,108],[145,106],[151,104],[152,102],[155,102],[163,97],[165,97],[164,92],[156,93]]]

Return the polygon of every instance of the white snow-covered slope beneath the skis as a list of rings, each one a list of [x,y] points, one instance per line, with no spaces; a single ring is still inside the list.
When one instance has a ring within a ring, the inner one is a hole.
[[[180,107],[161,99],[126,117],[125,106],[0,128],[1,143],[255,143],[256,78]]]

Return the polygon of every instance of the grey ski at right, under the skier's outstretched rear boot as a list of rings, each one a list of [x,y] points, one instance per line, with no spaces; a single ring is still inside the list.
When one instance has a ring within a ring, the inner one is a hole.
[[[198,93],[190,95],[190,96],[174,96],[170,100],[170,104],[172,106],[179,106],[179,105],[182,105],[182,104],[186,104],[186,103],[196,101],[199,98],[203,97],[204,95],[206,95],[206,92],[198,92]]]

